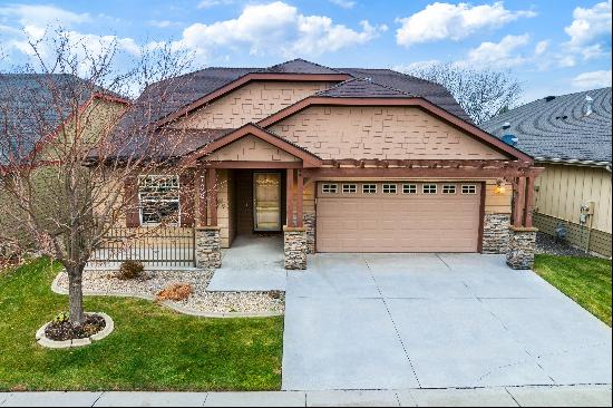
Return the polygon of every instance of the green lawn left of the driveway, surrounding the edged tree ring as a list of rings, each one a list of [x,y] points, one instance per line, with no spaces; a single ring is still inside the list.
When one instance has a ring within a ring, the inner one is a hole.
[[[36,330],[68,298],[51,292],[59,268],[38,260],[0,274],[2,390],[278,390],[283,318],[203,319],[155,303],[86,297],[115,320],[106,339],[49,350]]]

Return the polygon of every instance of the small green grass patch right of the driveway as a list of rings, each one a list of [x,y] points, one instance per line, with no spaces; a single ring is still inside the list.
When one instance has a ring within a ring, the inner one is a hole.
[[[534,270],[547,282],[611,326],[611,261],[536,255]]]

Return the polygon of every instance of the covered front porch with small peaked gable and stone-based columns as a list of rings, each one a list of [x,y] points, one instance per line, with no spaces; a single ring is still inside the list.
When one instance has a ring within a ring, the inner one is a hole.
[[[306,268],[303,169],[320,165],[315,156],[249,125],[188,161],[197,266],[240,263],[241,254],[257,251],[259,243],[269,237],[281,244],[276,246],[281,268]],[[272,246],[264,252],[271,251]],[[242,266],[275,268],[261,261]]]

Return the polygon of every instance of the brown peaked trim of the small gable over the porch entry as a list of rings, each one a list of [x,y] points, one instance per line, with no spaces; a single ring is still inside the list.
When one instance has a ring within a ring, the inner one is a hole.
[[[283,152],[300,158],[304,167],[319,167],[323,163],[320,157],[306,150],[305,148],[296,144],[293,144],[290,140],[283,137],[280,137],[255,124],[246,124],[235,130],[226,133],[225,135],[211,142],[210,144],[196,149],[193,154],[189,154],[186,157],[184,157],[182,163],[183,164],[193,163],[198,158],[204,157],[224,146],[227,146],[231,143],[236,142],[247,135],[253,135],[259,139],[270,143],[271,145],[282,149]]]

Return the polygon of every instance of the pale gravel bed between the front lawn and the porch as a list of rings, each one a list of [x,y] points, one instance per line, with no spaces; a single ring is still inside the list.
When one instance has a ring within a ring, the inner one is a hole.
[[[164,304],[187,314],[215,313],[231,317],[232,313],[283,314],[284,294],[269,292],[207,292],[213,271],[147,271],[140,279],[119,280],[108,271],[84,272],[85,294],[135,295],[155,299],[173,284],[188,284],[193,293],[181,301],[164,300]],[[61,272],[55,289],[68,292],[68,275]]]

